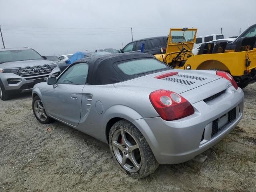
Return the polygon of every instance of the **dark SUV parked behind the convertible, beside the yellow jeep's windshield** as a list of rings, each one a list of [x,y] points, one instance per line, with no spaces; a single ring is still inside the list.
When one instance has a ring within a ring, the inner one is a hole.
[[[121,53],[140,52],[141,44],[144,43],[144,53],[149,53],[153,55],[161,54],[160,48],[162,47],[163,50],[166,50],[167,41],[168,36],[151,37],[136,40],[124,46],[124,48],[121,50]]]

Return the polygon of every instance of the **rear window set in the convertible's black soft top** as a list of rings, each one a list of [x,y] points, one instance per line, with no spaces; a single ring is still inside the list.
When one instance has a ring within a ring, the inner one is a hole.
[[[166,64],[156,59],[132,60],[122,62],[117,66],[126,75],[138,75],[168,68]]]

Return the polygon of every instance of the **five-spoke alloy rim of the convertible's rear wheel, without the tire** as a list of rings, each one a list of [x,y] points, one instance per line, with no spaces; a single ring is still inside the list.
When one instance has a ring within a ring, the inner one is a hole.
[[[112,138],[113,151],[119,164],[129,172],[137,172],[141,167],[141,153],[134,137],[123,129],[118,129]]]

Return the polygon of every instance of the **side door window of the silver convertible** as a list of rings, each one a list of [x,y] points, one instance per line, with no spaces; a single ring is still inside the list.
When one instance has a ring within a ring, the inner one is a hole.
[[[88,64],[78,63],[66,70],[58,79],[58,84],[86,84]]]

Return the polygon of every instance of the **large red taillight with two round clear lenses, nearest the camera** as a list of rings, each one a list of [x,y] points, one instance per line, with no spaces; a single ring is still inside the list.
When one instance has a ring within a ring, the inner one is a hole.
[[[156,90],[149,95],[156,112],[164,120],[171,121],[194,114],[194,108],[185,98],[168,90]]]

